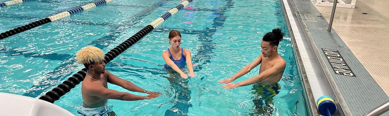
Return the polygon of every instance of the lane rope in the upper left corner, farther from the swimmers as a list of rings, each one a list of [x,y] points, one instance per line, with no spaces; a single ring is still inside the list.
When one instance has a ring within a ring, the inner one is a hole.
[[[15,1],[15,0],[13,0],[13,1]],[[20,2],[21,0],[18,0],[18,1]],[[9,36],[13,36],[13,35],[18,34],[20,32],[27,31],[27,30],[30,30],[30,29],[32,29],[34,27],[37,27],[37,26],[49,23],[51,21],[58,20],[58,19],[61,19],[63,17],[67,17],[67,16],[70,16],[72,14],[76,14],[78,12],[81,12],[81,11],[84,11],[84,10],[87,10],[87,9],[90,9],[90,8],[93,8],[93,7],[96,7],[96,6],[103,5],[103,4],[105,4],[107,2],[110,2],[110,1],[112,1],[112,0],[99,0],[97,2],[89,3],[88,5],[83,5],[81,7],[77,7],[77,8],[74,8],[74,9],[67,10],[65,12],[61,12],[60,14],[49,16],[49,17],[47,17],[45,19],[38,20],[38,21],[32,22],[30,24],[26,24],[25,26],[21,26],[21,27],[15,28],[15,29],[11,29],[9,31],[1,33],[0,34],[0,39],[8,38]]]

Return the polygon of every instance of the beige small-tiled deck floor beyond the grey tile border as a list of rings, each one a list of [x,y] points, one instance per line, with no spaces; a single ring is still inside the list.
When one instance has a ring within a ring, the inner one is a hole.
[[[389,96],[389,10],[385,6],[387,0],[357,0],[355,9],[338,7],[332,27]],[[316,8],[329,22],[332,7]]]

